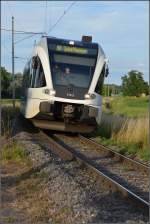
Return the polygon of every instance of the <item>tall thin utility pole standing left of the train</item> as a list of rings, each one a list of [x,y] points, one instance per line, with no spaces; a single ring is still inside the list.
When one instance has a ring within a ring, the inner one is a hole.
[[[13,108],[15,108],[15,63],[14,63],[14,17],[12,16],[12,100]]]

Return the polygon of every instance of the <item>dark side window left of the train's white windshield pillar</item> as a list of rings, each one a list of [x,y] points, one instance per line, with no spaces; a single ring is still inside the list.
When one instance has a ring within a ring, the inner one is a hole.
[[[31,78],[31,87],[40,88],[46,86],[46,80],[44,75],[44,70],[42,63],[38,57],[34,57],[34,63],[32,61],[32,78]]]

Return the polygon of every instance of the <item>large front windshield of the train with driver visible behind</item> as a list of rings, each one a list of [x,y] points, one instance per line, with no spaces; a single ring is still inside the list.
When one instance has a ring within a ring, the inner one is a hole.
[[[61,51],[50,54],[53,84],[88,88],[94,74],[97,54],[89,55],[83,48],[69,48],[64,48],[67,49],[65,52],[61,48]]]

